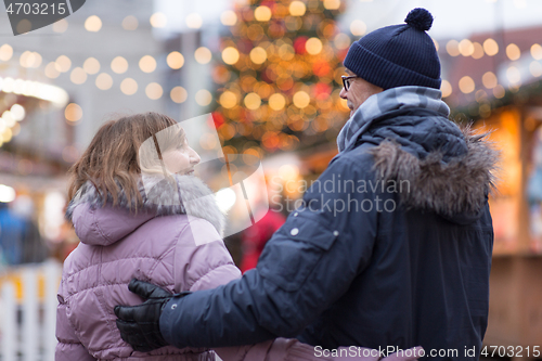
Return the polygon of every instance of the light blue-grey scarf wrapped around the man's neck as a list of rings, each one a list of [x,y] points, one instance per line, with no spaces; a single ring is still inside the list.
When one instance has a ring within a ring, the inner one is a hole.
[[[426,87],[398,87],[371,95],[348,119],[337,137],[339,152],[347,151],[356,140],[380,115],[405,107],[421,107],[436,111],[442,116],[450,115],[450,108],[441,100],[440,90]]]

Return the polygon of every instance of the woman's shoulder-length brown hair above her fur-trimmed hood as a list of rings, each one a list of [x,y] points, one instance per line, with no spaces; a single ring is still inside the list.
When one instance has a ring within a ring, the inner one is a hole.
[[[153,112],[124,116],[105,123],[68,171],[69,199],[74,198],[81,185],[90,181],[102,195],[104,204],[107,194],[111,194],[113,205],[116,205],[119,192],[124,190],[128,204],[134,204],[137,209],[142,202],[138,186],[141,179],[140,146],[145,140],[153,138],[158,157],[162,158],[160,149],[164,152],[179,144],[184,138],[182,128],[172,127],[177,125],[170,117]],[[162,140],[164,137],[160,137],[158,146],[156,133],[168,128],[173,131],[166,137],[166,142]]]

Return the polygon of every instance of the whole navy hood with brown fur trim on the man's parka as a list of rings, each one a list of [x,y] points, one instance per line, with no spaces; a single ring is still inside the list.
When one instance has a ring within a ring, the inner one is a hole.
[[[435,211],[468,223],[494,190],[499,152],[488,134],[475,134],[441,116],[408,114],[390,117],[361,137],[374,143],[376,177],[409,181],[401,193],[406,208]]]

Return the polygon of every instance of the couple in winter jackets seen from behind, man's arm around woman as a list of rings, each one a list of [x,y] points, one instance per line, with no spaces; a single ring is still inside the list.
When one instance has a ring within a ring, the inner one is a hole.
[[[99,131],[72,170],[67,217],[81,244],[59,291],[56,360],[478,359],[496,157],[448,118],[431,24],[414,9],[352,43],[340,92],[350,119],[318,180],[408,188],[312,186],[311,206],[289,215],[243,276],[210,191],[192,175],[197,154],[182,129],[168,131],[175,120],[149,113]],[[107,137],[140,141],[126,145],[126,162],[111,151],[107,168],[94,156],[109,154]],[[129,180],[147,167],[130,166],[145,139],[171,175],[154,189],[172,186],[178,203],[151,204]],[[378,199],[397,206],[360,206]],[[337,202],[349,207],[324,207]]]

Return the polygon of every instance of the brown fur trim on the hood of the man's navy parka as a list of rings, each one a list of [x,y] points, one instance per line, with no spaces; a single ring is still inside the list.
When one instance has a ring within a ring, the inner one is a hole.
[[[447,153],[447,146],[441,146],[420,157],[395,140],[383,141],[370,151],[376,177],[409,181],[409,192],[401,193],[406,208],[428,209],[459,223],[470,222],[494,190],[499,152],[487,133],[475,134],[469,126],[461,132],[466,151],[460,155]]]

